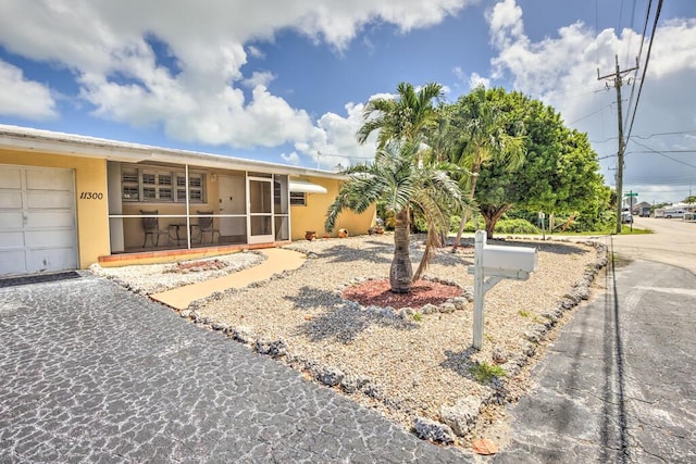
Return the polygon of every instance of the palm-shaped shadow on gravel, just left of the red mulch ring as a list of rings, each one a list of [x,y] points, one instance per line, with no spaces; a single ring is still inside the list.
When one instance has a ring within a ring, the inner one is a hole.
[[[332,291],[303,287],[296,297],[285,297],[295,303],[295,309],[303,311],[309,308],[325,308],[319,315],[308,315],[307,321],[298,326],[296,335],[303,335],[311,341],[334,339],[348,343],[372,326],[391,327],[399,330],[413,330],[418,324],[396,317],[385,317],[378,313],[357,308]]]

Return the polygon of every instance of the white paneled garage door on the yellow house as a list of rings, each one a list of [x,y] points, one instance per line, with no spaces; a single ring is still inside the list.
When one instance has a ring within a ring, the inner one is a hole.
[[[77,267],[71,170],[0,165],[0,275]]]

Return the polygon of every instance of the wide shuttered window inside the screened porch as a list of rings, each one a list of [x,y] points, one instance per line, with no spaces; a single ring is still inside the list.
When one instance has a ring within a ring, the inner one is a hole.
[[[175,185],[176,184],[176,185]],[[123,201],[147,203],[186,202],[186,175],[182,172],[158,167],[123,166],[121,170]],[[188,173],[188,200],[206,201],[206,175]]]

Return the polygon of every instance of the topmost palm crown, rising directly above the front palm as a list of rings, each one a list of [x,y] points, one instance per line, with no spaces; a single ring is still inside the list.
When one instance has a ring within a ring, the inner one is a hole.
[[[412,84],[400,83],[396,89],[396,99],[374,98],[365,104],[362,110],[364,124],[356,133],[360,145],[375,130],[380,130],[377,148],[386,147],[390,140],[413,141],[436,123],[433,99],[443,97],[442,85],[430,83],[415,91]]]

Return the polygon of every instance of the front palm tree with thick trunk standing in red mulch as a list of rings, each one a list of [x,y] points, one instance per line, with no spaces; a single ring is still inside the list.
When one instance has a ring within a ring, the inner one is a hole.
[[[428,242],[443,227],[449,227],[449,212],[462,208],[461,190],[449,175],[449,166],[418,162],[420,141],[390,142],[377,150],[370,166],[356,166],[346,171],[345,183],[334,203],[328,208],[324,228],[334,229],[343,210],[363,213],[370,205],[383,202],[394,213],[394,259],[389,284],[395,293],[407,293],[411,283],[420,278],[430,258],[428,247],[423,253],[415,275],[409,255],[410,213],[415,210],[428,222]]]

